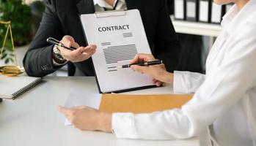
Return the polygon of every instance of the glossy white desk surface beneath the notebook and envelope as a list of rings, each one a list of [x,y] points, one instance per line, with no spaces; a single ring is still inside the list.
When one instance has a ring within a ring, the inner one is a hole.
[[[20,98],[0,103],[1,146],[198,146],[199,138],[178,141],[117,139],[114,134],[80,131],[64,126],[58,110],[73,88],[98,92],[94,77],[45,77],[44,82]],[[170,86],[132,93],[170,93]]]

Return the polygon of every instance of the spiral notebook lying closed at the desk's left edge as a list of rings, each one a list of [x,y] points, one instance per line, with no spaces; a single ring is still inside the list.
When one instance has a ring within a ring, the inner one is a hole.
[[[0,76],[0,99],[16,99],[42,81],[41,77]]]

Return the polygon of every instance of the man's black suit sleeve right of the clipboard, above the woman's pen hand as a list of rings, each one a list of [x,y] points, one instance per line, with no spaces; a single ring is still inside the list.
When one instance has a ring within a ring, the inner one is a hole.
[[[159,3],[161,4],[158,12],[158,26],[153,54],[156,58],[165,61],[164,64],[167,71],[173,72],[178,67],[180,42],[178,42],[165,1],[161,0]]]

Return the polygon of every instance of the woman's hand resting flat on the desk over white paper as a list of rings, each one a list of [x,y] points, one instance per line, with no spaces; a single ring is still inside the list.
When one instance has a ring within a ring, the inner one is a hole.
[[[87,131],[105,131],[111,132],[112,115],[106,112],[89,107],[74,107],[72,109],[59,107],[59,112],[76,128]]]

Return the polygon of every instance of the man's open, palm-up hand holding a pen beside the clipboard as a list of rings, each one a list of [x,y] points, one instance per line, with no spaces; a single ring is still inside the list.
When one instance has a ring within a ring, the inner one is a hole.
[[[87,60],[96,52],[96,48],[97,48],[96,45],[88,45],[87,47],[80,47],[78,43],[75,42],[73,37],[70,37],[70,36],[63,37],[60,42],[62,42],[62,44],[65,45],[66,47],[77,48],[76,50],[67,50],[64,47],[58,47],[63,58],[73,63]],[[87,53],[87,55],[83,53]]]

